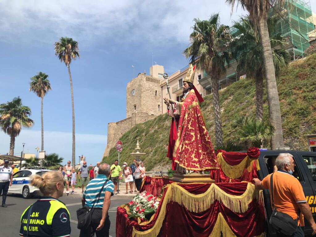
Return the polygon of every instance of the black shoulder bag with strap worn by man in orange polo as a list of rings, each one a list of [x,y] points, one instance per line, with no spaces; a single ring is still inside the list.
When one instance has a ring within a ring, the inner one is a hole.
[[[272,214],[270,217],[270,224],[276,231],[281,232],[285,235],[292,235],[297,230],[297,222],[299,219],[300,214],[297,216],[297,219],[293,219],[290,215],[279,212],[274,207],[274,200],[273,200],[273,173],[270,177],[270,189],[271,189],[271,197],[272,197]]]

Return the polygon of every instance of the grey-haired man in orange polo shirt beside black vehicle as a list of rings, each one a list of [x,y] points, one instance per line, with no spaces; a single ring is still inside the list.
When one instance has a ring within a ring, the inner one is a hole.
[[[304,216],[311,225],[313,235],[316,234],[316,224],[309,205],[307,204],[303,188],[300,182],[292,175],[295,167],[293,155],[281,153],[276,158],[276,166],[278,171],[273,175],[274,206],[278,211],[288,214],[293,219],[296,219],[298,215],[300,215],[297,231],[291,236],[304,236],[302,228],[304,227]],[[270,190],[270,177],[271,174],[266,176],[262,181],[259,179],[253,179],[252,181],[257,189]],[[282,233],[277,234],[278,236],[286,236]]]

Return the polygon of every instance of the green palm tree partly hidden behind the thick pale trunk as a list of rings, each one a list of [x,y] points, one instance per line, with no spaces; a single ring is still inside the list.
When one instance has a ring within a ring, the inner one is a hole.
[[[289,52],[284,49],[286,44],[281,33],[275,31],[276,24],[280,17],[273,15],[268,19],[270,44],[272,46],[273,63],[276,76],[282,68],[289,63]],[[258,31],[255,30],[249,16],[241,17],[240,21],[233,25],[237,29],[234,40],[235,57],[238,60],[237,71],[245,73],[248,77],[254,78],[256,82],[256,119],[263,117],[263,78],[264,61],[262,44]]]

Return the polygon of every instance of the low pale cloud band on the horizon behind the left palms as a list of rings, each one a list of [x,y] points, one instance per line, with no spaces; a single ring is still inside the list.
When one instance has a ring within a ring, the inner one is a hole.
[[[0,153],[9,152],[10,137],[0,132]],[[106,147],[107,137],[98,134],[80,134],[76,133],[76,160],[79,155],[84,155],[88,163],[100,161]],[[23,149],[22,143],[25,143],[25,153],[36,153],[35,147],[41,145],[41,132],[32,130],[23,130],[15,138],[15,155],[21,154]],[[72,154],[72,133],[44,131],[44,149],[46,154],[57,153],[66,160],[71,160]]]

